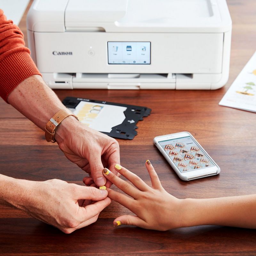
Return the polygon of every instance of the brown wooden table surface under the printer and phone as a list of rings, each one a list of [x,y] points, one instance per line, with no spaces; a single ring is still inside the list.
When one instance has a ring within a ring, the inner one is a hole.
[[[228,7],[233,20],[230,77],[217,91],[55,91],[61,100],[73,96],[152,108],[151,115],[138,123],[134,140],[118,140],[121,164],[149,183],[144,162],[150,159],[164,188],[178,198],[256,193],[255,113],[218,105],[256,50],[256,4],[255,0],[228,0]],[[26,13],[20,28],[26,38],[25,17]],[[56,144],[47,143],[44,132],[3,100],[0,108],[2,174],[82,184],[85,173],[69,162]],[[189,182],[177,177],[153,145],[153,138],[180,131],[196,137],[219,164],[220,175]],[[0,255],[256,255],[255,230],[221,226],[166,232],[114,228],[114,218],[125,213],[129,211],[113,202],[96,223],[66,235],[19,210],[0,206]]]

